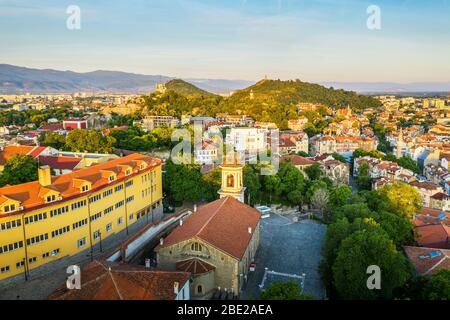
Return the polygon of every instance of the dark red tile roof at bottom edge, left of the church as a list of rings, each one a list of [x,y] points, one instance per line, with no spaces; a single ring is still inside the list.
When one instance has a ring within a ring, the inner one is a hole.
[[[176,282],[181,289],[190,273],[150,270],[143,266],[93,261],[81,272],[81,289],[66,285],[50,300],[174,300]]]

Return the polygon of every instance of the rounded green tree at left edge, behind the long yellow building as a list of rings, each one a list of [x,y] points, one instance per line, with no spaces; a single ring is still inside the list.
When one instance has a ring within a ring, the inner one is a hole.
[[[37,179],[37,162],[31,156],[19,153],[6,161],[3,172],[0,174],[0,186],[17,185]]]

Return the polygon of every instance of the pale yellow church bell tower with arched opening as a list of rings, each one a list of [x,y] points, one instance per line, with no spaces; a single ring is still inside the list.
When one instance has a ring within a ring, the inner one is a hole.
[[[244,166],[238,163],[237,153],[233,152],[232,161],[228,161],[227,156],[224,156],[220,169],[222,170],[222,187],[219,190],[220,198],[233,197],[244,203]]]

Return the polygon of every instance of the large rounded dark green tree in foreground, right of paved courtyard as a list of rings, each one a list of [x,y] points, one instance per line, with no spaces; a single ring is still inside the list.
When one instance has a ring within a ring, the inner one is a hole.
[[[367,288],[372,265],[381,269],[380,290]],[[382,231],[357,231],[343,240],[332,269],[339,298],[350,300],[391,299],[412,276],[412,266]]]

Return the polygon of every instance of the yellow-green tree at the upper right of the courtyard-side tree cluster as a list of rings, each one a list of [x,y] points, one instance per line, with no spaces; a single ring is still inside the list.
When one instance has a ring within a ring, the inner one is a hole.
[[[423,204],[422,196],[414,187],[398,181],[385,185],[380,194],[389,200],[390,212],[407,219],[419,212]]]

